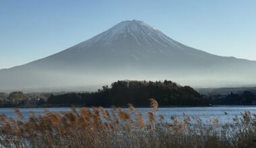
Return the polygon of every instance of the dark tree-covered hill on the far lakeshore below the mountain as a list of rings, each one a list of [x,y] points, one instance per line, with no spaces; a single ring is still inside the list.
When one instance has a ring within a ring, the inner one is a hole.
[[[48,104],[84,104],[84,106],[148,106],[155,98],[160,106],[203,106],[207,100],[192,87],[172,81],[117,81],[92,93],[50,96]]]

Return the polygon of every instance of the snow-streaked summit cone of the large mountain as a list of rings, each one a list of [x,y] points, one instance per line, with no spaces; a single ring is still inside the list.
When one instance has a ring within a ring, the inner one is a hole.
[[[139,20],[120,22],[105,32],[94,36],[90,40],[82,42],[79,46],[90,46],[98,43],[108,46],[108,44],[111,44],[112,42],[118,42],[123,39],[127,40],[127,37],[133,38],[133,40],[135,40],[134,43],[136,44],[141,44],[143,42],[148,45],[151,44],[152,46],[156,46],[153,44],[161,44],[161,46],[165,47],[168,45],[179,46],[178,42]]]

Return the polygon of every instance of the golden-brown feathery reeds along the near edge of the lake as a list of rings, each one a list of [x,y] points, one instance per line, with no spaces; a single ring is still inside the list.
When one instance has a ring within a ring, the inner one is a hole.
[[[184,116],[166,121],[156,115],[158,103],[151,100],[152,112],[143,118],[131,104],[122,108],[81,108],[79,112],[31,114],[18,119],[0,116],[1,147],[255,147],[256,115],[245,112],[232,123]]]

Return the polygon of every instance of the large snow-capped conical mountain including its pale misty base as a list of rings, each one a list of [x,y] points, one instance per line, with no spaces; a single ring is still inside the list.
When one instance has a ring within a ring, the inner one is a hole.
[[[255,67],[256,61],[203,52],[132,20],[44,59],[0,70],[0,91],[91,90],[118,79],[170,79],[196,87],[253,85]]]

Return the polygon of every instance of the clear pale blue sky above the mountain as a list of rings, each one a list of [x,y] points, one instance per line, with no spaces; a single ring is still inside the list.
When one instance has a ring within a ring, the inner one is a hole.
[[[124,20],[222,56],[256,61],[255,0],[0,0],[0,69],[49,56]]]

